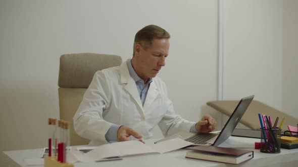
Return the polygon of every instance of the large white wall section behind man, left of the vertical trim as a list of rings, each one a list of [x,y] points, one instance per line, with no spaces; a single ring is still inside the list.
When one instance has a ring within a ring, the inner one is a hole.
[[[125,60],[135,33],[149,24],[172,36],[159,76],[177,113],[197,121],[204,104],[216,99],[216,0],[1,1],[0,8],[1,150],[46,146],[46,120],[59,116],[61,54]]]

